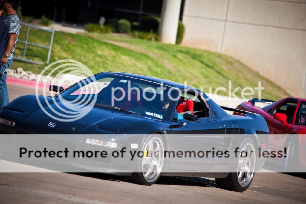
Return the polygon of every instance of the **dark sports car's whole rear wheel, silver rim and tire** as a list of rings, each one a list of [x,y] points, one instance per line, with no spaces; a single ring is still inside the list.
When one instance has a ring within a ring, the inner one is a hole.
[[[216,178],[219,187],[243,192],[251,185],[255,175],[256,150],[254,141],[245,138],[240,146],[239,157],[235,158],[232,172],[225,178]]]

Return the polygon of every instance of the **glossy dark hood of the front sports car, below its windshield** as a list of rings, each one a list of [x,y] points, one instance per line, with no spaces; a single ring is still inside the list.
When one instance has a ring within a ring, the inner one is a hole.
[[[61,102],[57,98],[43,96],[38,96],[38,99],[41,101],[41,105],[44,107],[45,111],[43,111],[43,109],[41,109],[39,106],[35,95],[28,95],[20,98],[10,104],[7,109],[18,112],[19,121],[23,124],[28,124],[28,127],[35,126],[37,129],[47,129],[48,131],[39,132],[48,133],[56,131],[66,133],[95,133],[95,130],[97,130],[96,133],[100,133],[98,130],[109,133],[117,133],[121,132],[127,127],[130,127],[133,124],[145,120],[144,116],[124,112],[117,109],[101,106],[87,106],[82,108],[82,111],[86,113],[84,114],[84,117],[67,122],[65,121],[65,119],[67,119],[67,117],[65,117],[67,116],[67,108],[65,107],[69,105],[67,104],[68,102]],[[46,105],[47,102],[49,103],[48,106]],[[57,113],[54,113],[52,109],[56,110]],[[24,117],[21,115],[24,115]],[[17,118],[14,119],[14,121],[16,121]],[[48,126],[49,123],[54,123],[55,126],[50,127]],[[89,129],[90,131],[84,132],[86,129]]]

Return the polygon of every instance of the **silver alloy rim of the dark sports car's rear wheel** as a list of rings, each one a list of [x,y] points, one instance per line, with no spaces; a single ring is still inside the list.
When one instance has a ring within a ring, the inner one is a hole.
[[[252,143],[247,143],[240,151],[237,166],[238,182],[242,187],[248,186],[248,184],[252,181],[255,165],[255,147]]]

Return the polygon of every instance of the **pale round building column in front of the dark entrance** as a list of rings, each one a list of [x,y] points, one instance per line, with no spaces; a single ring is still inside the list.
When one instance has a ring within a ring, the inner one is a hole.
[[[159,24],[160,41],[175,44],[181,0],[163,0]]]

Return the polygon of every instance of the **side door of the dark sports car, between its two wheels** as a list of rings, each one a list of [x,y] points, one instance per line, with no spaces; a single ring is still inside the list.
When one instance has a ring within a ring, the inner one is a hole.
[[[171,121],[173,134],[168,135],[171,137],[170,150],[174,153],[182,151],[184,155],[182,158],[170,158],[169,169],[205,171],[211,169],[216,161],[213,152],[221,148],[223,140],[221,134],[225,134],[225,127],[211,112],[203,96],[199,92],[198,94],[199,97],[194,100],[195,109],[203,108],[207,112],[193,113],[200,116],[197,121],[177,119],[175,114]],[[211,152],[207,154],[207,151]]]

